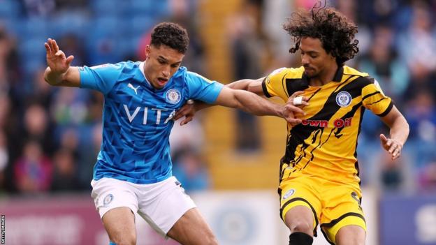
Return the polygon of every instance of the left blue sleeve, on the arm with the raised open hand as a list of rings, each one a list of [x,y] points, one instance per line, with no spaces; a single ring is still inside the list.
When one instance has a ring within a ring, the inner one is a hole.
[[[122,72],[122,64],[103,64],[79,68],[80,87],[108,94]]]

